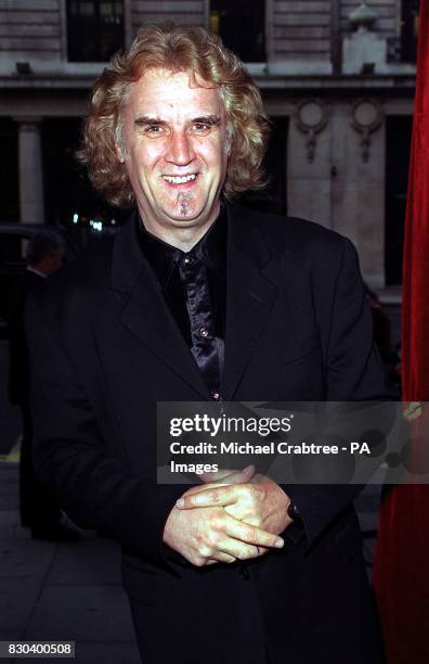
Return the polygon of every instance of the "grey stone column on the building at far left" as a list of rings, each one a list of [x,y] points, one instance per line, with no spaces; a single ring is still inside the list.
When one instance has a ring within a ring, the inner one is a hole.
[[[44,224],[41,118],[14,118],[18,128],[20,210],[22,224]]]

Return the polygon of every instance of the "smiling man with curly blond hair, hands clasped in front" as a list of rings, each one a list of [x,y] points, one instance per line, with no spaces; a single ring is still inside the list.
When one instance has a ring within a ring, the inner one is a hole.
[[[145,27],[99,79],[81,153],[134,212],[28,309],[39,472],[78,524],[120,542],[150,664],[380,661],[356,486],[247,469],[193,506],[202,486],[156,485],[157,401],[384,392],[350,242],[231,203],[261,187],[266,135],[216,36]]]

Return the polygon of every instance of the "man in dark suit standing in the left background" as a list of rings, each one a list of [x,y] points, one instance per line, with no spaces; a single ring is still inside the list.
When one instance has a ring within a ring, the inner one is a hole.
[[[35,473],[24,308],[32,288],[62,267],[64,253],[64,242],[54,231],[43,229],[31,237],[26,250],[27,269],[13,291],[9,312],[9,396],[12,404],[21,407],[24,429],[20,456],[21,522],[23,526],[31,528],[34,539],[53,541],[74,540],[79,535],[62,523],[61,510],[52,490]]]

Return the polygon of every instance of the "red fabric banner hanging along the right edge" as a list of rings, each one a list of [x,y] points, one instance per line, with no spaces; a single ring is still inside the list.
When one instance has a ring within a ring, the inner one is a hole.
[[[402,293],[403,400],[429,401],[429,0],[419,13]],[[425,411],[415,450],[428,432]],[[374,588],[388,664],[429,664],[429,486],[396,486],[382,501]]]

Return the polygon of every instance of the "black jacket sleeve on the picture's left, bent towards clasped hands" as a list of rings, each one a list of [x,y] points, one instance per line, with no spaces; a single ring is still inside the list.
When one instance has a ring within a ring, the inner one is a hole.
[[[26,328],[37,473],[79,526],[102,531],[131,554],[167,564],[164,526],[183,488],[138,477],[112,454],[84,386],[34,296]]]

